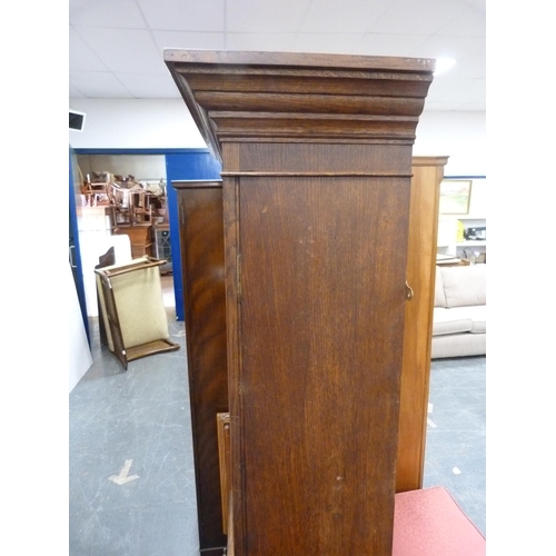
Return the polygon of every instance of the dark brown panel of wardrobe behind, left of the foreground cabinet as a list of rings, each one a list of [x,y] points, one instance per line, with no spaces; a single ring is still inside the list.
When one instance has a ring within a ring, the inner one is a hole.
[[[178,206],[200,548],[221,548],[216,418],[228,410],[222,189],[178,189]]]

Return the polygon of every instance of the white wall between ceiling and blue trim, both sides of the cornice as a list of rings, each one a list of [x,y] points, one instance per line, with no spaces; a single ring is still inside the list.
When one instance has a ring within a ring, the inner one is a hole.
[[[181,99],[70,99],[86,112],[85,130],[70,131],[76,149],[206,148]],[[449,156],[446,176],[486,175],[485,112],[424,112],[415,156]]]

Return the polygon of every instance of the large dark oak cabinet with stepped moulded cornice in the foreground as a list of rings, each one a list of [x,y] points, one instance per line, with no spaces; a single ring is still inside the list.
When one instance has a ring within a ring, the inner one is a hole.
[[[235,554],[389,555],[411,146],[434,62],[165,59],[222,161]]]

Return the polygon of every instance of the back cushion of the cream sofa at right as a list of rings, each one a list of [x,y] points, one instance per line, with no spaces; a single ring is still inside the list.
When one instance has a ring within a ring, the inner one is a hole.
[[[486,265],[443,267],[446,307],[486,305]]]

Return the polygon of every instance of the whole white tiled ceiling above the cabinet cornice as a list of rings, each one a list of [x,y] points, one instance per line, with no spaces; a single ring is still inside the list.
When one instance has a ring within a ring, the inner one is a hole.
[[[69,92],[76,98],[167,98],[175,86],[168,80],[165,48],[453,57],[457,64],[435,77],[427,101],[440,109],[480,110],[485,4],[486,0],[69,0]]]

